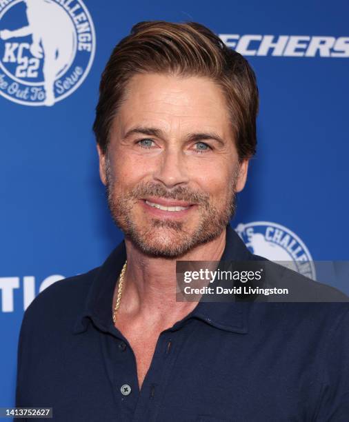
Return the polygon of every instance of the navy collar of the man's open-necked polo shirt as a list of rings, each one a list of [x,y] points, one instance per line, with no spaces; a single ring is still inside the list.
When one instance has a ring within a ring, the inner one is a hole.
[[[230,224],[226,228],[226,246],[221,261],[248,261],[252,253],[232,229]],[[97,269],[86,299],[85,309],[74,324],[74,334],[86,331],[88,320],[92,320],[104,332],[114,331],[112,322],[112,297],[115,283],[126,261],[125,241],[121,241],[106,261]],[[190,314],[172,326],[178,329],[187,319],[197,318],[206,323],[230,332],[248,332],[248,303],[203,302],[200,301]]]

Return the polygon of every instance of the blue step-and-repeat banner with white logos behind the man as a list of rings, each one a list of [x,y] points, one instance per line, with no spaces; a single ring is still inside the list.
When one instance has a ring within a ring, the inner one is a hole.
[[[14,405],[24,310],[122,239],[91,127],[103,67],[138,21],[203,23],[257,74],[258,152],[232,221],[248,248],[296,270],[348,259],[348,16],[337,0],[0,0],[0,406]]]

